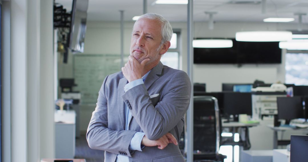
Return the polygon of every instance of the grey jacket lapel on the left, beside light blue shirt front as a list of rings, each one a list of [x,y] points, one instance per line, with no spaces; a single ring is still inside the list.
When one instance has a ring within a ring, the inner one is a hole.
[[[124,91],[124,86],[128,83],[127,79],[123,77],[119,81],[119,86],[118,86],[118,110],[119,110],[119,115],[120,115],[120,122],[122,125],[123,130],[125,130],[125,105],[124,101],[122,99],[122,95],[125,93]]]

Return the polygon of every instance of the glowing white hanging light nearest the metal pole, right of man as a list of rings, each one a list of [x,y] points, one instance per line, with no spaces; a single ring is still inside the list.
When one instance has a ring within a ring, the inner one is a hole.
[[[197,39],[193,40],[193,47],[196,48],[230,48],[232,40],[228,39]]]

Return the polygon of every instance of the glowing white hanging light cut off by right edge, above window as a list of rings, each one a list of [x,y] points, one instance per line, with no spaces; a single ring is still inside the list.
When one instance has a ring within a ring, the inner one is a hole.
[[[308,50],[308,40],[296,39],[286,42],[279,42],[279,48],[286,48],[289,50]]]

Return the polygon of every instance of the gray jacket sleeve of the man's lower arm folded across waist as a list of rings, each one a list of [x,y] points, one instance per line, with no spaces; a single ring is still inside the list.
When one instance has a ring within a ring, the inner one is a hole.
[[[99,96],[95,111],[92,113],[91,121],[87,129],[87,141],[91,149],[104,150],[107,152],[132,156],[129,148],[130,141],[136,131],[131,130],[111,130],[108,129],[106,84],[108,76],[105,78],[99,90]],[[115,107],[117,110],[117,107]]]

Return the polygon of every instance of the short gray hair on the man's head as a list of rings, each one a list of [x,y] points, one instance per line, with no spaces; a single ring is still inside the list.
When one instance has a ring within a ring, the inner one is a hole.
[[[162,17],[161,15],[156,14],[156,13],[146,13],[146,14],[143,14],[143,15],[141,15],[138,18],[138,20],[140,20],[142,18],[155,19],[155,20],[158,20],[158,21],[161,22],[161,36],[163,38],[162,38],[160,44],[164,44],[167,41],[171,40],[173,31],[172,31],[171,24],[169,23],[168,20],[166,20],[164,17]],[[135,22],[135,24],[136,24],[136,22]],[[135,24],[134,24],[134,26],[135,26]]]

